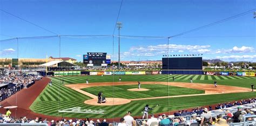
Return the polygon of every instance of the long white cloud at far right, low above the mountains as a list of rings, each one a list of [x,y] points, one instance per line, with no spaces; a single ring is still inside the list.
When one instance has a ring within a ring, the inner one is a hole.
[[[249,52],[254,52],[254,48],[253,47],[246,47],[246,46],[242,46],[242,47],[237,47],[234,46],[231,49],[219,49],[216,50],[215,53],[249,53]]]

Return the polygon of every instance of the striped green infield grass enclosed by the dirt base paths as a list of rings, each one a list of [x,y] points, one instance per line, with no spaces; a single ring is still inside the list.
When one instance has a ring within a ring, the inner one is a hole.
[[[84,88],[85,92],[89,92],[97,96],[99,90],[103,92],[105,97],[119,97],[124,99],[138,99],[144,97],[160,97],[160,96],[174,96],[174,95],[188,95],[188,94],[203,94],[204,90],[197,90],[191,88],[173,87],[167,85],[147,85],[143,84],[141,88],[149,89],[148,91],[133,92],[127,89],[138,88],[138,85],[123,85],[123,86],[101,86]],[[114,96],[113,96],[114,92]]]

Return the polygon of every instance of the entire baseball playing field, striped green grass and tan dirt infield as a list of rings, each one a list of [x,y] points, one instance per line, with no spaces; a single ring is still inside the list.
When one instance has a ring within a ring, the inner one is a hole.
[[[172,77],[174,76],[174,81]],[[122,78],[118,82],[119,77]],[[190,83],[193,78],[193,83]],[[217,75],[104,75],[52,77],[30,109],[39,114],[77,118],[122,117],[126,111],[141,116],[145,104],[159,106],[150,113],[208,106],[256,97],[251,76]],[[89,85],[86,85],[89,79]],[[63,81],[62,81],[63,80]],[[216,80],[218,87],[214,88]],[[141,88],[138,90],[138,82]],[[107,103],[97,104],[102,91]],[[112,101],[111,101],[112,100]],[[114,106],[111,106],[114,105]]]

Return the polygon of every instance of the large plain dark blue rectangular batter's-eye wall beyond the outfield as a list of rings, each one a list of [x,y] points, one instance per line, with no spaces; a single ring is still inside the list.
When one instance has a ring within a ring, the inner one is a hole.
[[[203,74],[201,57],[163,58],[162,74]]]

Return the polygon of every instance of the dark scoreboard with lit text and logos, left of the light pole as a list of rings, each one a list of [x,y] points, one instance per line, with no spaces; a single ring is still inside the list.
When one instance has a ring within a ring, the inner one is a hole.
[[[110,55],[101,52],[87,52],[87,55],[83,55],[83,62],[84,64],[93,64],[93,66],[110,64]]]

